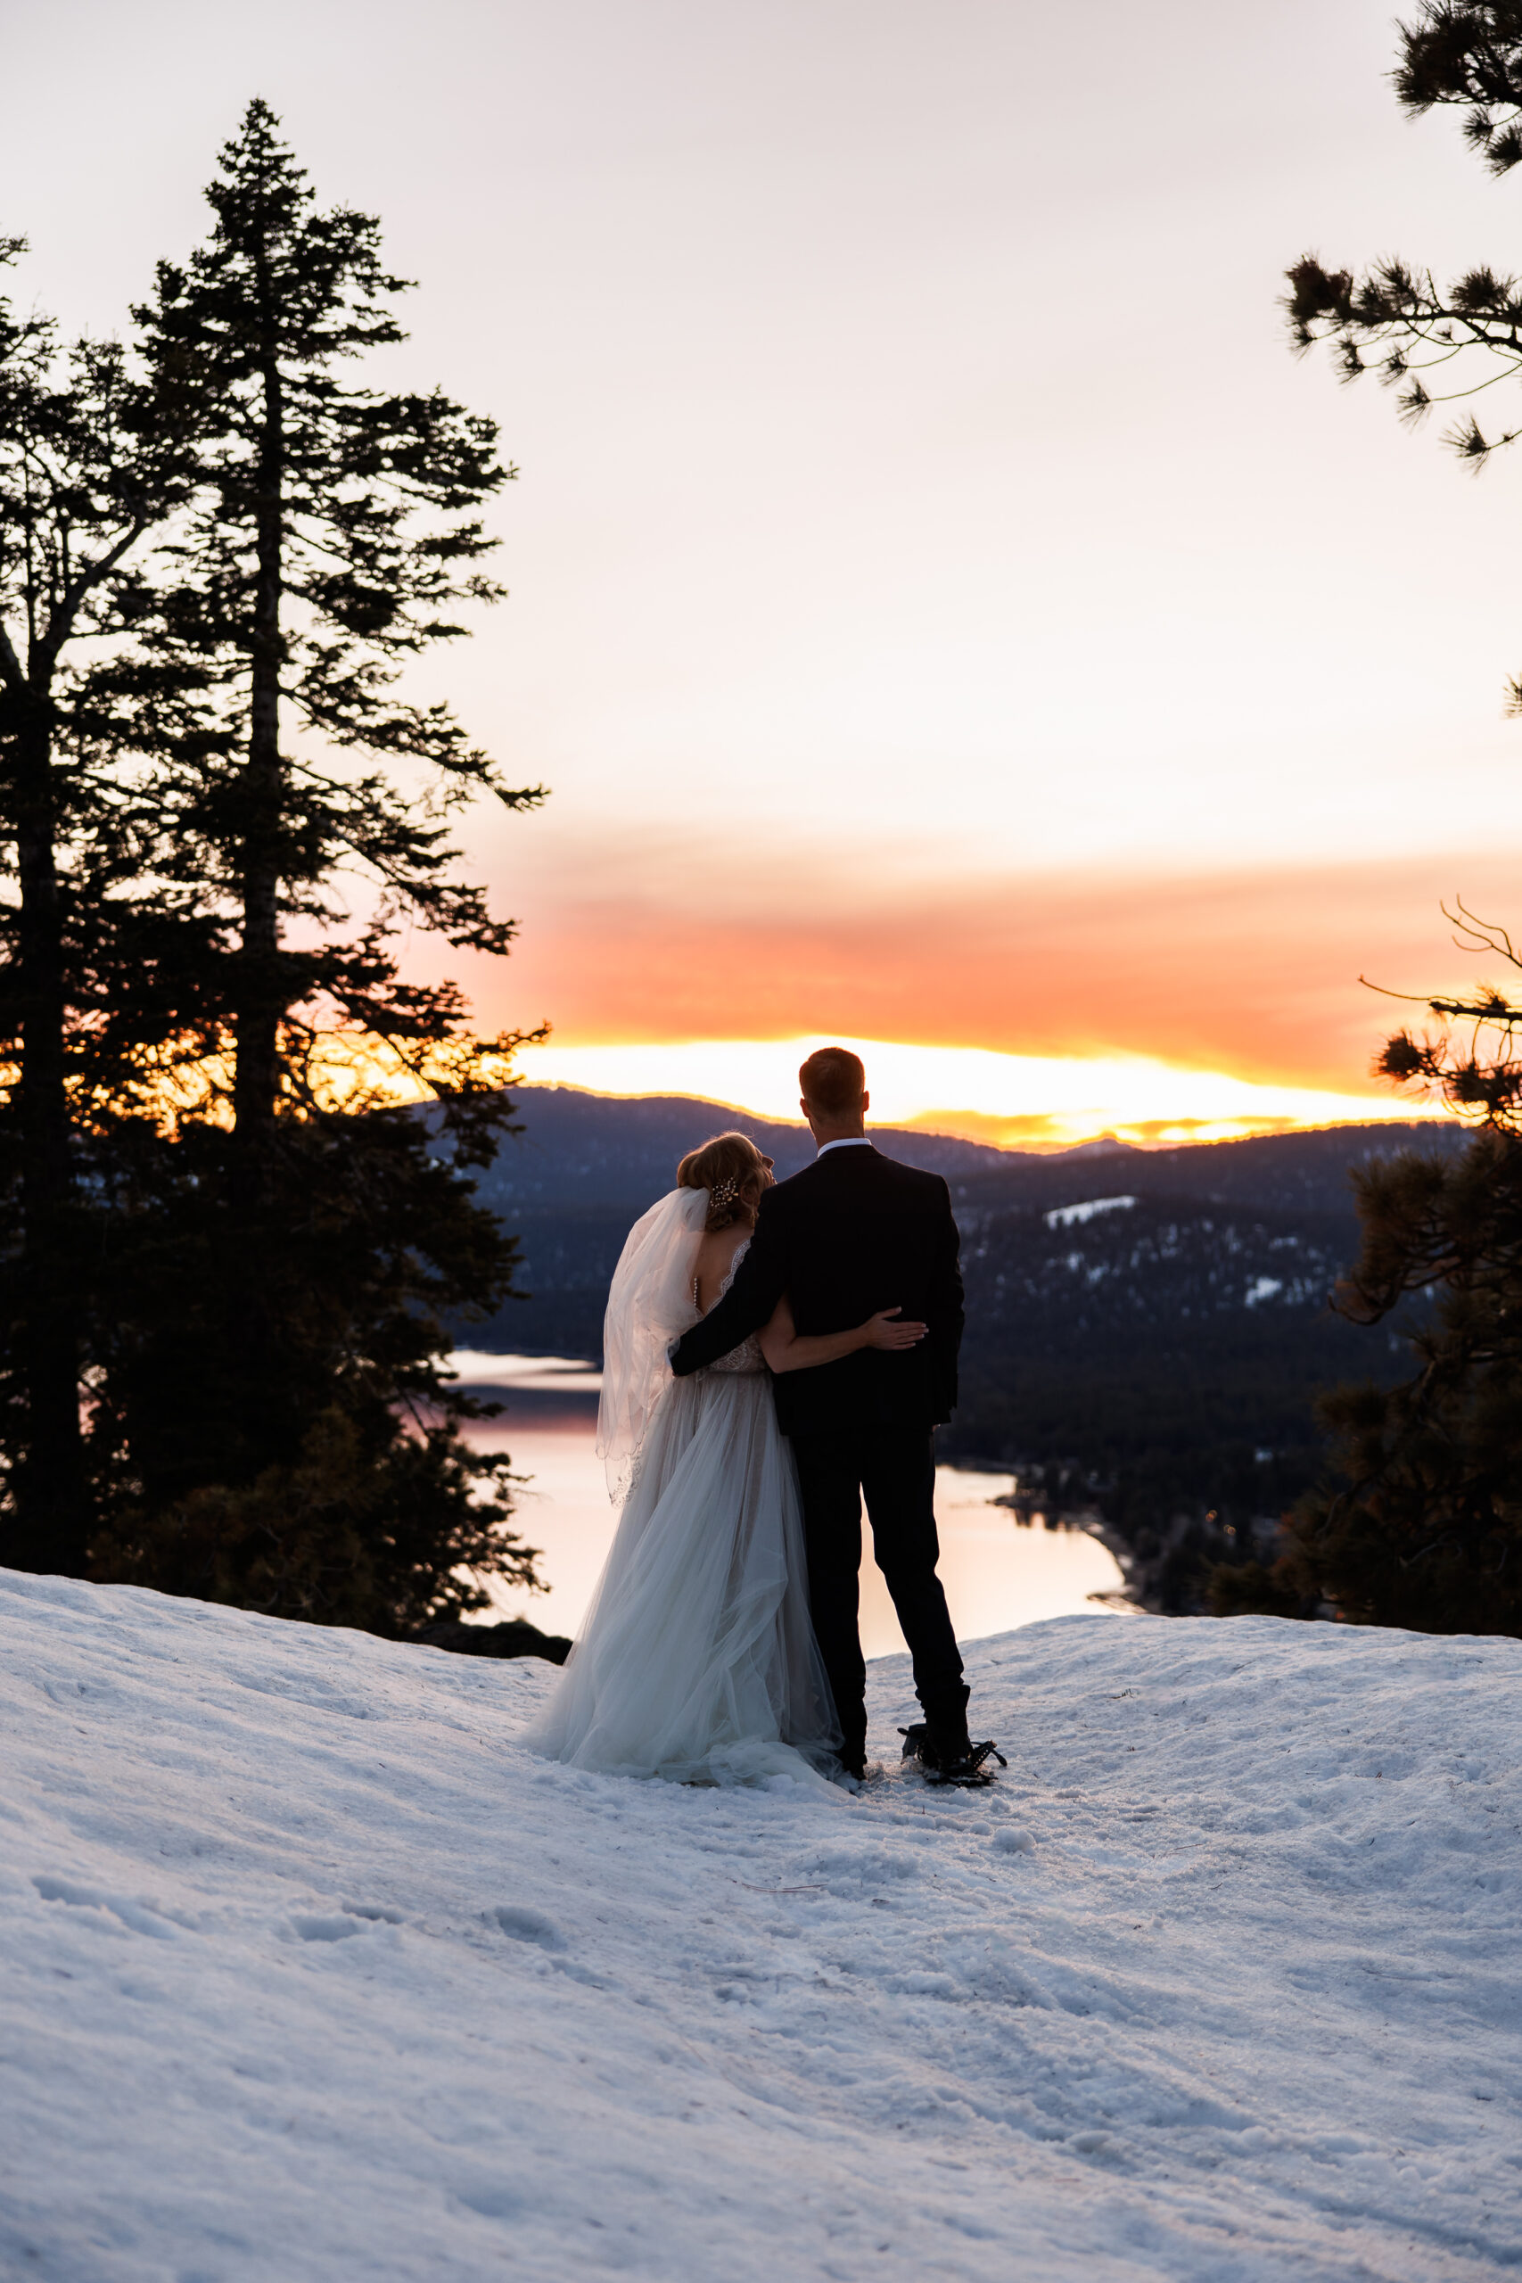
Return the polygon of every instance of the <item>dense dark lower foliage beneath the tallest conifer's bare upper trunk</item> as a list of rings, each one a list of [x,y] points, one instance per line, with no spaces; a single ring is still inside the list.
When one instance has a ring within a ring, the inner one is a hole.
[[[440,1381],[445,1317],[502,1299],[513,1242],[415,1112],[283,1116],[262,1278],[278,1342],[251,1415],[228,1148],[192,1123],[116,1157],[91,1575],[392,1637],[486,1607],[486,1575],[534,1587],[509,1461],[461,1436],[495,1404]]]

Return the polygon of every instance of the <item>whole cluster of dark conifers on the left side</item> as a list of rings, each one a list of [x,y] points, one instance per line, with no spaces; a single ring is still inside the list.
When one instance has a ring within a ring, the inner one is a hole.
[[[523,1041],[399,966],[513,936],[454,822],[543,790],[406,687],[513,468],[265,103],[205,196],[116,338],[0,299],[0,1562],[406,1637],[534,1582],[445,1377]]]

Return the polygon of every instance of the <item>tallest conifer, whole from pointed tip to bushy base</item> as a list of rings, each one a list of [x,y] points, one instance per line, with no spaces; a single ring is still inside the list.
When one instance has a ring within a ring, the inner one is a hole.
[[[475,952],[513,936],[459,879],[450,817],[541,792],[397,687],[497,596],[479,509],[513,470],[491,420],[347,372],[404,338],[402,281],[372,217],[317,210],[276,128],[249,105],[208,242],[137,310],[196,470],[139,626],[135,735],[228,952],[205,968],[224,1057],[173,1151],[119,1173],[96,1568],[406,1632],[481,1605],[461,1566],[534,1582],[507,1466],[465,1447],[477,1406],[443,1374],[445,1320],[511,1288],[470,1171],[520,1034],[475,1039],[459,989],[406,982],[395,950],[408,920]],[[397,1107],[399,1082],[436,1110]]]

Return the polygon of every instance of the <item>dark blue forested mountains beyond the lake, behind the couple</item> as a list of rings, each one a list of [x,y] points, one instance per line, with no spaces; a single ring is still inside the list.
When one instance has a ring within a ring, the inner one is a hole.
[[[737,1128],[778,1178],[812,1157],[803,1126],[682,1096],[523,1087],[513,1100],[523,1132],[479,1192],[518,1233],[532,1297],[470,1326],[472,1347],[596,1361],[623,1237],[685,1151]],[[1043,1477],[1054,1509],[1098,1500],[1161,1580],[1157,1605],[1191,1607],[1205,1562],[1239,1555],[1321,1466],[1317,1390],[1406,1370],[1399,1336],[1326,1306],[1358,1251],[1351,1171],[1401,1148],[1449,1153],[1465,1132],[1339,1126],[1063,1155],[890,1128],[874,1139],[947,1178],[963,1233],[947,1454]]]

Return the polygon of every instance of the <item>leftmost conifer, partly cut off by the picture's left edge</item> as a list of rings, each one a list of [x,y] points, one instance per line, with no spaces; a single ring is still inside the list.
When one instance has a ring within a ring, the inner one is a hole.
[[[18,240],[0,244],[14,260]],[[5,1559],[82,1573],[91,1493],[89,1146],[141,1107],[183,1034],[167,961],[196,900],[148,881],[164,813],[123,765],[123,671],[148,596],[141,555],[185,495],[164,400],[116,342],[64,349],[0,301],[0,1447]],[[130,708],[128,708],[130,710]],[[128,893],[130,890],[130,893]]]

